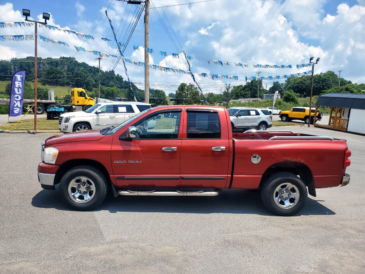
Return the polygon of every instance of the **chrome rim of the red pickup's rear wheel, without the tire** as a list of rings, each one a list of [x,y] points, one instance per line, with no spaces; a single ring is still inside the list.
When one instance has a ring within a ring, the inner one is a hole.
[[[299,189],[291,183],[282,183],[274,191],[274,201],[280,208],[289,209],[299,201]]]

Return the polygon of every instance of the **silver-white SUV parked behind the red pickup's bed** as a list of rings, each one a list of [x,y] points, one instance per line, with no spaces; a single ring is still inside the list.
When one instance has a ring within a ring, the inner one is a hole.
[[[273,125],[269,111],[260,107],[230,107],[228,112],[232,130],[266,130]]]

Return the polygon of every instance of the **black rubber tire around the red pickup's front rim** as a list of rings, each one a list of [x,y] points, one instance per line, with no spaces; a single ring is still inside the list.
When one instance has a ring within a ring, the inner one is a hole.
[[[84,176],[91,179],[93,183],[92,185],[95,187],[95,194],[89,202],[76,202],[69,195],[69,183],[78,176]],[[59,191],[61,192],[62,198],[70,208],[79,211],[92,210],[99,206],[107,196],[108,182],[104,174],[97,168],[90,165],[79,165],[65,173],[59,184]]]

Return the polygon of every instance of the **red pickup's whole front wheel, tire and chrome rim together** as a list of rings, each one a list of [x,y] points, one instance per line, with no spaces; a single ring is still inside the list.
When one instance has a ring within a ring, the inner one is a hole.
[[[108,183],[104,174],[90,165],[72,168],[62,177],[59,184],[61,196],[75,210],[92,210],[107,196]]]

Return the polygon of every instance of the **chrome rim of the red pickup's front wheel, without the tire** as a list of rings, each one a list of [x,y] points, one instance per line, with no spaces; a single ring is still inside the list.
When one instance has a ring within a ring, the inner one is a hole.
[[[73,201],[87,203],[95,196],[95,184],[88,177],[78,176],[70,181],[68,193]]]

